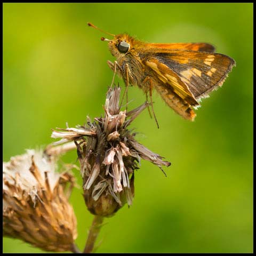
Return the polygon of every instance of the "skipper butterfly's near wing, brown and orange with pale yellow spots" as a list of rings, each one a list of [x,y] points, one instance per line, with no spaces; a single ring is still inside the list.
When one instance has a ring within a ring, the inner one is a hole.
[[[207,97],[207,93],[221,86],[235,65],[233,59],[223,54],[186,50],[155,51],[154,54],[145,56],[144,61],[149,67],[151,63],[156,63],[154,71],[157,70],[157,73],[166,77],[174,88],[177,84],[173,85],[170,76],[178,76],[187,85],[187,95],[192,94],[196,100]],[[184,89],[182,83],[178,86]]]

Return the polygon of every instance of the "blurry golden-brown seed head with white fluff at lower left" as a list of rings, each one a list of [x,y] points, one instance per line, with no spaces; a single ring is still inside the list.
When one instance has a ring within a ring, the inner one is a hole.
[[[68,172],[56,173],[55,158],[27,150],[3,163],[3,235],[46,251],[71,251],[77,231],[67,193],[74,186],[74,177]]]

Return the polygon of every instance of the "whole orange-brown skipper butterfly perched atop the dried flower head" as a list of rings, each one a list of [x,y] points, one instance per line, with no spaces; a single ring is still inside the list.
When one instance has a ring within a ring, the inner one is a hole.
[[[142,89],[147,98],[149,94],[152,99],[156,90],[169,107],[190,121],[201,98],[218,89],[235,66],[232,58],[214,53],[207,43],[145,43],[127,34],[109,35],[114,38],[101,38],[108,41],[116,58],[114,63],[108,61],[108,66],[126,85]]]

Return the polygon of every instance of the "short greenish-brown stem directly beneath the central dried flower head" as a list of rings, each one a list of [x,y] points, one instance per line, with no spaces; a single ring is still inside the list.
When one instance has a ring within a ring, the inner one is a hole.
[[[91,253],[94,247],[94,243],[99,235],[103,217],[95,215],[92,221],[92,226],[87,237],[86,245],[83,253]]]

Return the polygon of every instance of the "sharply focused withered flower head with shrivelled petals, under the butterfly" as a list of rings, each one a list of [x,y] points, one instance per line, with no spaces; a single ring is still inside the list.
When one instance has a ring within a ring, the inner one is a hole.
[[[85,203],[91,213],[111,216],[134,197],[134,170],[139,169],[140,158],[162,166],[171,163],[153,153],[134,137],[127,126],[143,111],[148,103],[126,114],[119,107],[121,89],[109,89],[105,103],[105,116],[90,120],[86,126],[54,131],[59,142],[74,140],[81,163]],[[78,130],[75,130],[78,129]],[[76,131],[76,132],[75,132]],[[86,134],[85,134],[86,133]],[[69,135],[70,134],[70,135]]]

